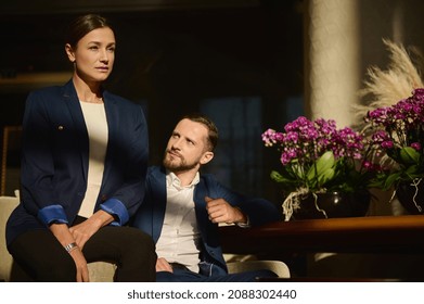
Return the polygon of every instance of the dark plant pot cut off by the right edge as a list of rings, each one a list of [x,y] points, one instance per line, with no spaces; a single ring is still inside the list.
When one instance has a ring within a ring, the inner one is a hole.
[[[401,182],[396,189],[396,197],[410,214],[424,213],[424,180],[415,186],[412,181]]]

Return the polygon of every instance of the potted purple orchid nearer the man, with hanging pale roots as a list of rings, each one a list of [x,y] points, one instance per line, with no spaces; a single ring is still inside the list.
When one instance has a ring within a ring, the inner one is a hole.
[[[300,116],[284,126],[284,131],[268,129],[262,134],[266,147],[279,152],[281,168],[271,172],[284,195],[282,204],[285,220],[305,206],[303,201],[312,201],[322,217],[364,215],[370,201],[368,179],[371,170],[364,160],[362,136],[349,127],[337,129],[333,119],[309,121]],[[319,198],[331,194],[335,201],[323,207]],[[359,205],[345,195],[358,194]],[[363,195],[364,194],[364,195]],[[342,205],[347,202],[347,205]],[[350,205],[349,205],[350,204]],[[346,212],[349,210],[349,212]]]

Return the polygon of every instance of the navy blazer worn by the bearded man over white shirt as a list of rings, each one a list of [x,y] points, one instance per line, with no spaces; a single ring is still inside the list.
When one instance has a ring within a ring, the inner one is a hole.
[[[202,237],[201,261],[215,264],[227,271],[222,249],[219,243],[218,225],[208,219],[205,197],[222,198],[237,206],[249,217],[252,226],[281,220],[278,207],[264,199],[250,199],[220,185],[213,175],[201,175],[194,190],[194,205],[197,228]],[[144,201],[138,210],[131,225],[152,236],[156,243],[159,239],[166,211],[166,170],[164,167],[149,167]],[[248,231],[246,231],[248,233]]]

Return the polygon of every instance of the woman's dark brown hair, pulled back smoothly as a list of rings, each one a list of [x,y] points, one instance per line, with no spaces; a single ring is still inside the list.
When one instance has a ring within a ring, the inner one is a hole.
[[[114,30],[105,17],[97,14],[79,16],[68,25],[65,43],[69,43],[75,49],[83,36],[93,29],[102,27],[108,27]]]

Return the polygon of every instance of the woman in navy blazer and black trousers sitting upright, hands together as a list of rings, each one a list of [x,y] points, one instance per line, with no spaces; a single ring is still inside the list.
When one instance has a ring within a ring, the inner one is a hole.
[[[36,281],[89,281],[94,261],[114,262],[117,281],[155,280],[153,241],[123,227],[144,197],[149,147],[141,106],[102,89],[115,46],[105,18],[76,18],[65,45],[72,80],[28,96],[7,242]]]

